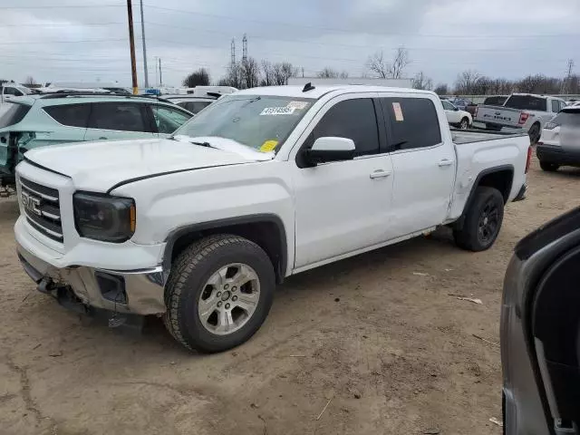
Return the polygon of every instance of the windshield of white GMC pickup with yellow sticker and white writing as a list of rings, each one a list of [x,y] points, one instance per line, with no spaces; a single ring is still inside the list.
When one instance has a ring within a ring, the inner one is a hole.
[[[231,95],[214,102],[174,135],[218,136],[260,151],[278,150],[314,99]]]

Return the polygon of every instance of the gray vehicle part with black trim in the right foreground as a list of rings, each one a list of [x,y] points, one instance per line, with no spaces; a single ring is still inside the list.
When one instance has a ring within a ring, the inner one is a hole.
[[[580,208],[521,240],[501,306],[504,435],[580,434]]]

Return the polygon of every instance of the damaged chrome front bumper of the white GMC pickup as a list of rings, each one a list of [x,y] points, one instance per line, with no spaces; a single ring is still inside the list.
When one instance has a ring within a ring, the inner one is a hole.
[[[39,242],[14,228],[18,258],[38,290],[56,296],[73,293],[79,304],[121,314],[163,314],[167,274],[162,266],[135,270],[112,270],[91,266],[53,266]]]

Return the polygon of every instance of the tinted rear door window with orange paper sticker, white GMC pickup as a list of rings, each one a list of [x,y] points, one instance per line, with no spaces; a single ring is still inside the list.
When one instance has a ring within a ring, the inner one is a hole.
[[[382,98],[381,102],[391,150],[427,148],[441,143],[437,110],[429,99]]]

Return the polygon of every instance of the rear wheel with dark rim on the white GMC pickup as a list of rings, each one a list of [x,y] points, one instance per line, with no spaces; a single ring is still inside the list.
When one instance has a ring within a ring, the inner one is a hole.
[[[469,251],[485,251],[498,238],[503,218],[504,198],[499,190],[478,187],[466,212],[463,226],[453,230],[455,243]]]

